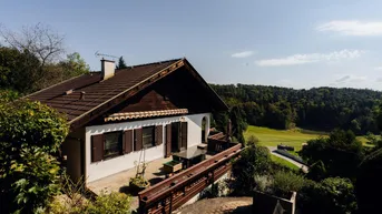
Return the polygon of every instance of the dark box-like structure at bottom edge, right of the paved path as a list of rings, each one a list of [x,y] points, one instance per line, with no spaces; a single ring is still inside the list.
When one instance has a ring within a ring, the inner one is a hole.
[[[253,213],[273,214],[285,213],[294,214],[296,210],[296,192],[290,194],[290,198],[277,197],[258,191],[254,191]],[[278,212],[275,212],[278,211]],[[281,212],[283,211],[283,212]]]

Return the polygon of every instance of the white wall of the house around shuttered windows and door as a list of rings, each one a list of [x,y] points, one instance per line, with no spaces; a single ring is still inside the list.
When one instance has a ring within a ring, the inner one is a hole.
[[[203,114],[192,114],[185,116],[172,116],[163,119],[151,119],[144,121],[134,121],[134,122],[120,122],[114,124],[105,125],[94,125],[86,128],[86,169],[85,177],[87,177],[87,183],[112,175],[115,173],[129,170],[135,167],[134,162],[139,160],[140,151],[131,152],[129,154],[120,155],[114,159],[91,163],[91,135],[101,134],[105,132],[112,131],[123,131],[138,129],[143,126],[150,125],[166,125],[173,122],[179,122],[183,118],[184,121],[187,121],[188,134],[187,134],[187,146],[193,146],[202,143],[202,119],[207,118],[206,126],[209,130],[209,113]],[[165,129],[164,129],[165,131]],[[146,162],[154,161],[156,159],[161,159],[165,156],[165,134],[164,143],[158,146],[153,146],[146,150]]]

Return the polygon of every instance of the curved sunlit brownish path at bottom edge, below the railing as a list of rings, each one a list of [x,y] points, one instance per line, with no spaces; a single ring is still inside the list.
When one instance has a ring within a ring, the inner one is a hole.
[[[252,197],[216,197],[184,206],[176,214],[246,214],[252,213]]]

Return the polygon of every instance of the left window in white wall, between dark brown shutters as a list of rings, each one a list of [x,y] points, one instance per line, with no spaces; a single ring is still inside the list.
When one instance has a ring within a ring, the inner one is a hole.
[[[123,132],[105,133],[104,159],[123,154]]]

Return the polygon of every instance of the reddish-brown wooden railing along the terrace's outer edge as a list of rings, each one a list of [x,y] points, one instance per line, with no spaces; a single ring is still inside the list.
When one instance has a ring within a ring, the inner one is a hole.
[[[232,169],[232,160],[242,151],[241,144],[217,153],[156,185],[138,193],[139,213],[172,213]]]

